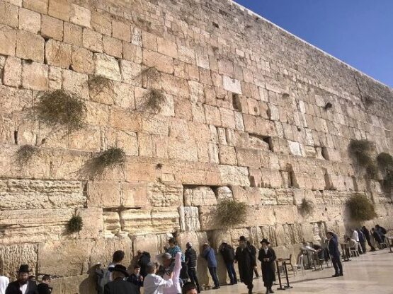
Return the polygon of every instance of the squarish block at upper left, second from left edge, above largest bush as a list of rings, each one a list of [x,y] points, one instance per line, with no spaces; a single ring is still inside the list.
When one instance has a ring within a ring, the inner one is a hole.
[[[16,56],[42,63],[44,61],[44,39],[39,35],[19,30],[16,33]]]

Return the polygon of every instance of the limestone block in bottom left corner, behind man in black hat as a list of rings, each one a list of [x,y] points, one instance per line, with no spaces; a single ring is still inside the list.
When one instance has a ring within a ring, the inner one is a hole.
[[[21,243],[14,245],[0,245],[1,274],[16,279],[16,271],[20,264],[28,264],[35,274],[37,264],[38,245],[31,243]]]

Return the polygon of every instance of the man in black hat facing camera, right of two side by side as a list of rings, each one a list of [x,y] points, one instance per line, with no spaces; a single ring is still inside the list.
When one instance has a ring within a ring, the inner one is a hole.
[[[259,250],[258,260],[262,266],[262,280],[266,287],[266,293],[274,293],[272,290],[273,281],[275,281],[274,261],[276,259],[275,252],[269,247],[270,242],[266,239],[261,241],[262,248]]]

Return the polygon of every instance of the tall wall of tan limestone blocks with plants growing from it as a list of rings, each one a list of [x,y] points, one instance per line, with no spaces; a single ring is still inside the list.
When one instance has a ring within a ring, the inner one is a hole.
[[[123,249],[130,264],[175,232],[198,250],[267,237],[288,257],[326,228],[342,235],[353,194],[375,203],[366,225],[391,227],[392,195],[365,180],[348,143],[393,153],[393,90],[232,1],[0,0],[0,77],[0,259],[12,278],[24,262],[59,276],[55,294],[94,293],[96,262]],[[150,88],[164,93],[158,113],[142,107]],[[85,100],[83,129],[29,115],[56,89]],[[36,151],[20,166],[26,144]],[[124,165],[83,172],[113,146]],[[219,225],[222,199],[245,202],[247,222]],[[69,235],[75,213],[84,228]]]

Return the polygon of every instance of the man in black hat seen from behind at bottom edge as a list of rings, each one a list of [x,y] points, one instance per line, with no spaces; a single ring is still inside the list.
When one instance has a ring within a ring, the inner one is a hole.
[[[116,264],[108,269],[112,273],[113,281],[103,288],[103,294],[137,294],[138,288],[132,283],[125,281],[129,275],[125,266]]]

